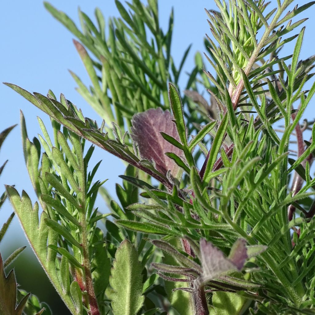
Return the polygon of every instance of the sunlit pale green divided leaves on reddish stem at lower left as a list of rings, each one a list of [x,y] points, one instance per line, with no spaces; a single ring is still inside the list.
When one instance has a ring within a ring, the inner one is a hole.
[[[65,99],[61,98],[63,100]],[[92,309],[96,304],[90,265],[94,243],[93,239],[89,239],[96,232],[95,218],[98,213],[97,209],[93,211],[93,206],[98,188],[103,182],[96,181],[92,185],[97,167],[87,173],[93,147],[83,156],[84,141],[67,129],[61,132],[60,124],[55,121],[52,121],[55,138],[53,146],[40,121],[45,138],[40,136],[40,141],[33,140],[45,148],[39,165],[41,150],[28,140],[22,113],[21,122],[26,165],[43,208],[40,219],[38,204],[32,206],[26,192],[22,192],[20,198],[14,187],[7,186],[7,193],[51,282],[69,309],[75,314],[81,314],[83,305],[80,296],[83,287],[86,287],[89,296],[85,306]],[[71,149],[67,139],[71,140]],[[62,272],[69,268],[71,274]],[[72,278],[70,286],[69,277]],[[82,285],[80,293],[77,289],[79,284]]]

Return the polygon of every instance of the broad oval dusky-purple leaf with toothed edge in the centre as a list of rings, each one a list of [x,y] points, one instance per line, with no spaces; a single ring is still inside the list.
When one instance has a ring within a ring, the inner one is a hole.
[[[148,109],[146,112],[135,114],[131,120],[131,138],[138,143],[142,158],[154,161],[159,172],[166,175],[170,170],[173,177],[180,173],[180,167],[165,155],[173,152],[182,155],[182,150],[164,140],[160,132],[164,132],[180,142],[175,123],[169,111],[161,108]]]

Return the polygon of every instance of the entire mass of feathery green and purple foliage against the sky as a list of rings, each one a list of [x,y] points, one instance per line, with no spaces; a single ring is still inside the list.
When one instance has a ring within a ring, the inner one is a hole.
[[[53,144],[39,119],[43,136],[31,142],[21,114],[41,218],[26,192],[7,186],[7,194],[72,314],[314,313],[315,125],[300,121],[315,93],[315,83],[305,90],[315,57],[299,61],[305,29],[291,34],[305,18],[291,19],[314,3],[284,15],[293,2],[269,10],[260,0],[215,0],[205,43],[216,74],[200,70],[196,54],[183,98],[177,84],[189,48],[177,69],[173,13],[164,32],[157,1],[133,0],[129,9],[116,1],[121,19],[109,20],[108,38],[98,9],[96,26],[79,11],[80,31],[45,3],[82,42],[74,43],[92,86],[72,76],[103,122],[64,95],[57,101],[51,91],[46,97],[5,83],[50,116],[54,134]],[[290,42],[293,54],[280,56]],[[274,127],[280,120],[282,133]],[[293,136],[295,159],[288,157]],[[99,163],[88,173],[94,146],[86,150],[86,140],[128,164],[116,185],[119,203],[105,181],[93,183]],[[110,214],[94,209],[98,191]]]

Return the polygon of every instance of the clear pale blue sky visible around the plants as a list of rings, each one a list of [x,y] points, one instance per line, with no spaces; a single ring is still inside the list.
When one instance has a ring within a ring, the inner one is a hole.
[[[272,3],[276,1],[272,0]],[[306,1],[296,1],[302,5]],[[105,18],[118,16],[114,0],[51,0],[56,8],[66,12],[78,25],[77,8],[93,16],[95,7],[99,7]],[[161,25],[166,28],[168,24],[171,7],[175,11],[175,27],[173,34],[173,56],[174,60],[180,60],[187,46],[192,43],[192,49],[188,56],[185,69],[190,71],[194,66],[194,54],[196,51],[204,51],[203,37],[206,32],[210,33],[206,21],[207,16],[204,7],[215,8],[214,1],[180,1],[180,0],[160,0],[159,9]],[[72,34],[67,31],[58,21],[44,9],[40,0],[32,1],[2,1],[0,4],[2,18],[0,20],[0,30],[3,46],[1,49],[1,82],[10,82],[20,85],[29,91],[46,94],[48,89],[54,91],[55,95],[64,93],[66,98],[71,100],[77,107],[82,108],[83,114],[87,117],[100,121],[97,114],[75,91],[76,84],[67,69],[75,72],[83,82],[89,84],[89,79],[84,66],[72,44]],[[301,14],[302,17],[311,17],[304,23],[306,33],[302,47],[301,58],[315,54],[314,29],[315,29],[315,6]],[[298,28],[300,30],[301,27]],[[283,55],[290,54],[293,47],[288,46]],[[185,75],[182,76],[181,83],[185,83]],[[14,91],[4,85],[0,85],[0,129],[3,130],[15,123],[19,123],[19,110],[21,109],[26,118],[28,135],[30,139],[37,136],[40,128],[37,123],[37,116],[41,117],[49,128],[50,122],[46,114],[17,95]],[[307,109],[305,117],[312,119],[315,116],[313,110],[314,100]],[[0,187],[4,184],[15,185],[19,192],[24,189],[31,197],[33,203],[36,201],[31,182],[24,164],[24,158],[20,140],[20,126],[17,126],[5,141],[0,152],[0,164],[9,159],[2,176],[0,177]],[[120,179],[118,175],[123,174],[123,164],[112,155],[96,148],[93,160],[90,165],[95,164],[100,159],[103,163],[98,171],[97,179],[108,178],[105,187],[114,194],[115,183]],[[4,189],[1,188],[0,192]],[[97,201],[100,211],[107,212],[101,199]],[[12,212],[11,205],[6,202],[0,211],[0,226]],[[5,237],[6,242],[14,241],[18,246],[26,245],[22,230],[17,218],[9,228]]]

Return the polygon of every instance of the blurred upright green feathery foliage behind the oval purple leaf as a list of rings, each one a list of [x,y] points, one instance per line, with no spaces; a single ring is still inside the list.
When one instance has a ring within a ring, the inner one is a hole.
[[[168,82],[177,84],[190,49],[186,50],[177,68],[171,53],[173,11],[168,29],[163,31],[156,1],[150,1],[146,6],[134,0],[126,7],[116,1],[116,6],[121,18],[108,20],[106,38],[105,21],[99,9],[95,9],[96,25],[79,10],[80,31],[65,13],[45,2],[46,9],[54,18],[86,47],[74,41],[92,86],[86,87],[77,75],[70,73],[78,85],[77,91],[105,119],[105,130],[110,134],[114,120],[124,133],[126,127],[130,130],[134,114],[149,108],[169,108]],[[99,70],[102,73],[100,81],[96,74]],[[192,73],[192,81],[195,76]],[[130,144],[129,136],[126,143]]]

